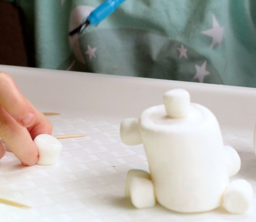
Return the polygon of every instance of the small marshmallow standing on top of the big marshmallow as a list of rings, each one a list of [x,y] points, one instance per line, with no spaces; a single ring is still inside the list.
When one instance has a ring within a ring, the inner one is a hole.
[[[189,114],[190,95],[185,89],[177,88],[167,91],[163,95],[163,102],[168,117],[182,118]]]

